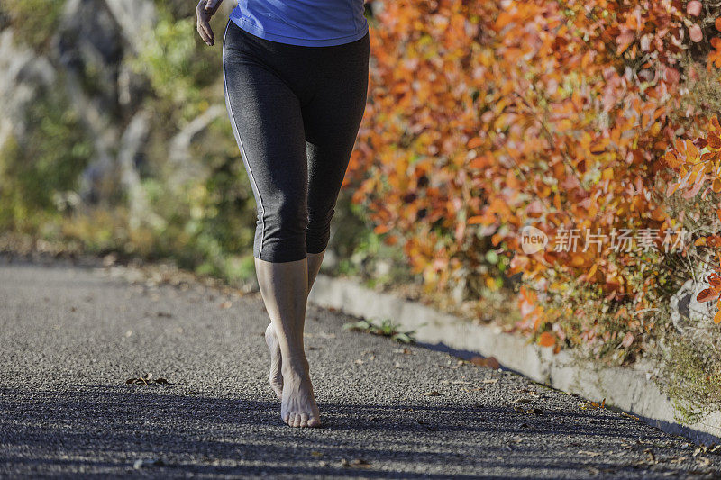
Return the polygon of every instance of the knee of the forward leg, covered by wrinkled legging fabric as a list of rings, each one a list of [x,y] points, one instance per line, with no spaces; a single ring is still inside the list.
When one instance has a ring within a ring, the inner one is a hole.
[[[306,205],[284,201],[259,212],[260,246],[257,257],[269,262],[306,258]]]

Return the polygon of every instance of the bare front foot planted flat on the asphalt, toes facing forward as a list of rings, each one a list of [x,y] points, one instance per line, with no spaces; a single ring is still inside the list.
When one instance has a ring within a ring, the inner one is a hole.
[[[292,364],[292,365],[288,365]],[[313,385],[305,358],[283,365],[283,398],[280,416],[291,427],[320,427],[321,418],[315,404]]]

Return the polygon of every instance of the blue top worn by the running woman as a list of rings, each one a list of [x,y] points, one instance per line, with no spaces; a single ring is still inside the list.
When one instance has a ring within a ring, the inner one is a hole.
[[[239,0],[231,20],[269,41],[324,47],[362,38],[363,10],[363,0]]]

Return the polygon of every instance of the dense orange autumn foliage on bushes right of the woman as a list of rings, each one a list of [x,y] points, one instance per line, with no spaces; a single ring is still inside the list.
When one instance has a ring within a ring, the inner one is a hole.
[[[651,307],[653,282],[639,289],[627,276],[637,256],[609,243],[525,254],[518,233],[534,225],[552,246],[562,229],[656,231],[650,244],[663,248],[677,226],[657,185],[681,168],[669,152],[685,133],[670,114],[695,24],[685,4],[384,2],[346,180],[353,201],[377,232],[393,234],[428,288],[476,275],[488,249],[507,253],[510,272],[534,286],[519,297],[522,327],[544,331],[542,344],[555,337],[539,294],[563,288],[560,279],[597,285],[627,312]]]

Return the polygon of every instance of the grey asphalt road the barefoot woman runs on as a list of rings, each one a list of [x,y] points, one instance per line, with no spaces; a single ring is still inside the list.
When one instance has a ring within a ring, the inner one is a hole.
[[[293,429],[268,385],[259,294],[111,272],[0,262],[0,476],[721,475],[717,453],[630,416],[344,331],[354,319],[315,306],[306,347],[325,427]]]

